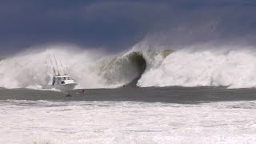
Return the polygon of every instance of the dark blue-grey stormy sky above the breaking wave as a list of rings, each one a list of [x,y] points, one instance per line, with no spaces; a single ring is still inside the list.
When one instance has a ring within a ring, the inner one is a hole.
[[[0,56],[67,43],[117,52],[140,43],[256,42],[254,0],[1,0]]]

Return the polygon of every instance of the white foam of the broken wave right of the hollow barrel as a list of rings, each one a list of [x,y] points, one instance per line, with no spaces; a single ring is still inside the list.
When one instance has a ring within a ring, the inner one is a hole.
[[[218,50],[176,51],[148,69],[138,86],[256,86],[254,50]]]

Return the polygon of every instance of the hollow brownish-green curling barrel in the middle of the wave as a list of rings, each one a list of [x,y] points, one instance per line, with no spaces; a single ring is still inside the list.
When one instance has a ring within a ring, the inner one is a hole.
[[[145,69],[146,60],[142,54],[130,52],[104,59],[100,66],[100,75],[106,79],[107,84],[120,85],[140,78]]]

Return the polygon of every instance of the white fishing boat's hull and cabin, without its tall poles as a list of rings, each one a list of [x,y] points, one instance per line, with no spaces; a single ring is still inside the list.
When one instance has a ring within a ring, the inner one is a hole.
[[[54,75],[52,86],[58,90],[73,90],[77,82],[74,82],[69,75]]]

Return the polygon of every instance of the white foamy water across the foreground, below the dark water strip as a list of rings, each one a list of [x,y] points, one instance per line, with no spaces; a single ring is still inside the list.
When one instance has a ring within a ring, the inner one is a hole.
[[[255,143],[255,104],[1,101],[0,142]]]

